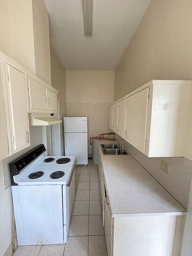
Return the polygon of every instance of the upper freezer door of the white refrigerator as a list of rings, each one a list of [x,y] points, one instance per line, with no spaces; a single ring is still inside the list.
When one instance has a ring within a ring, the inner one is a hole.
[[[87,117],[64,117],[64,132],[87,132]]]

